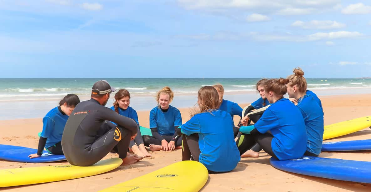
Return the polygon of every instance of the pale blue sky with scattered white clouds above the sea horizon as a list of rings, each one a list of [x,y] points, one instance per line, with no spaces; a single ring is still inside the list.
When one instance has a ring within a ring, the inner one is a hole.
[[[0,78],[371,76],[371,1],[3,0]]]

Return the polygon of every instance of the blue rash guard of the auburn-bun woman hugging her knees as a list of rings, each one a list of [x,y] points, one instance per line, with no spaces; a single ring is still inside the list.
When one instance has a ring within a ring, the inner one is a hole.
[[[296,159],[306,150],[306,129],[298,107],[282,98],[271,104],[254,127],[260,133],[270,130],[272,150],[279,160]]]

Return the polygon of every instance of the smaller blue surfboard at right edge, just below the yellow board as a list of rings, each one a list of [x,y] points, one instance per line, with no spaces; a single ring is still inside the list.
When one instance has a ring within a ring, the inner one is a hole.
[[[371,150],[371,139],[335,141],[322,143],[321,151],[360,151]]]

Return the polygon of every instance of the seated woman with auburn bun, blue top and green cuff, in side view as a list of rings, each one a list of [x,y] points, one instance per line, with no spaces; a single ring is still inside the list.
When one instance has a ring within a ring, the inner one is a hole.
[[[247,122],[244,122],[240,128],[242,135],[236,144],[241,157],[246,157],[245,152],[255,142],[278,160],[296,159],[305,153],[308,138],[304,119],[298,107],[283,98],[287,83],[289,80],[282,78],[264,83],[264,94],[271,105],[254,125],[246,126]]]

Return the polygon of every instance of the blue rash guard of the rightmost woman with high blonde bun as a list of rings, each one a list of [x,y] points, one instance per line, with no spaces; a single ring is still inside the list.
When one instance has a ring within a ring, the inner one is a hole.
[[[324,134],[324,113],[312,95],[305,95],[298,100],[297,105],[304,118],[308,140],[306,150],[319,155]]]

